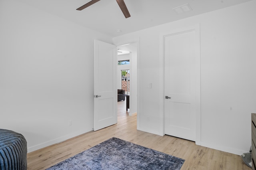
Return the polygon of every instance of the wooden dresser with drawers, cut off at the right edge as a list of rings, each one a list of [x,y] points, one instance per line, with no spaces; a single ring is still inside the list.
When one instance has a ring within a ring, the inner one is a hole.
[[[256,170],[256,113],[252,113],[252,170]]]

